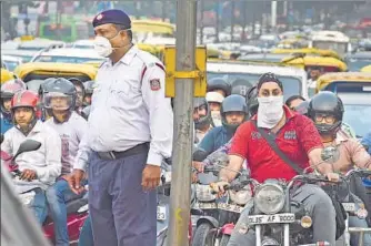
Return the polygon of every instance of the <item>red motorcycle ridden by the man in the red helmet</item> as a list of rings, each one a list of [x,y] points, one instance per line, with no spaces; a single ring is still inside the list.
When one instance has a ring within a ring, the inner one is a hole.
[[[16,158],[22,153],[37,151],[40,148],[40,146],[41,143],[38,141],[26,140],[23,143],[21,143],[14,156],[10,156],[8,153],[1,151],[1,160],[4,163],[4,165],[8,166],[8,170],[13,178],[19,178],[21,175],[21,172],[18,170]],[[33,199],[33,196],[34,192],[32,189],[19,194],[19,197],[24,205],[30,204]],[[70,244],[77,245],[81,227],[83,225],[84,219],[88,217],[88,194],[86,194],[83,197],[69,201],[67,203],[67,214],[68,214],[67,225],[68,225]],[[54,225],[49,215],[47,216],[42,225],[42,228],[46,237],[50,242],[54,243]]]

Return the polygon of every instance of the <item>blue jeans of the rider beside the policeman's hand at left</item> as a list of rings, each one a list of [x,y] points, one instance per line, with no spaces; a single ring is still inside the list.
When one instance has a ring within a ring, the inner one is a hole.
[[[68,246],[70,245],[70,240],[67,228],[66,203],[82,197],[83,194],[74,194],[68,182],[60,178],[53,186],[47,189],[46,195],[49,204],[50,216],[54,222],[56,246]]]

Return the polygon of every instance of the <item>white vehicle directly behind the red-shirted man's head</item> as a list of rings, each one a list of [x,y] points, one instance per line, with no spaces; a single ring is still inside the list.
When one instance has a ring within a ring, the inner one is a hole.
[[[208,80],[213,78],[223,78],[233,86],[237,79],[247,80],[245,92],[252,85],[258,83],[260,75],[267,72],[274,73],[283,85],[283,98],[287,100],[291,95],[298,95],[308,99],[308,79],[303,69],[278,65],[251,64],[247,62],[227,62],[212,61],[207,64]],[[237,84],[241,85],[241,84]]]

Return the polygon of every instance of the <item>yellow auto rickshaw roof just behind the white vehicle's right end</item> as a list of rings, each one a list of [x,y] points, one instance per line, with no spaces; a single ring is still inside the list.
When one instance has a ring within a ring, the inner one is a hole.
[[[281,61],[284,64],[300,66],[305,69],[305,71],[311,70],[311,68],[317,66],[321,68],[323,73],[329,72],[345,72],[347,64],[335,58],[331,57],[312,57],[305,54],[295,54]]]

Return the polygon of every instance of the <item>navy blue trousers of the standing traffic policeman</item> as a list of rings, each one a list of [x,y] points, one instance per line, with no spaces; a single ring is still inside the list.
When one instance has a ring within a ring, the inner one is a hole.
[[[156,246],[156,191],[142,189],[148,152],[89,162],[89,211],[94,246]]]

